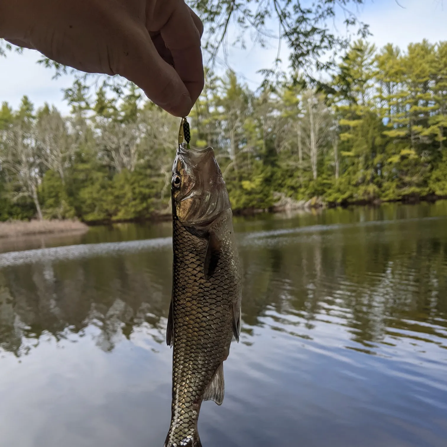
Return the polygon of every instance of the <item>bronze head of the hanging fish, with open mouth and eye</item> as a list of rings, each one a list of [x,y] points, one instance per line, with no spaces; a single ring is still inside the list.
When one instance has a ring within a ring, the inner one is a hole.
[[[173,212],[184,225],[206,225],[231,207],[213,148],[187,149],[181,144],[172,174]]]

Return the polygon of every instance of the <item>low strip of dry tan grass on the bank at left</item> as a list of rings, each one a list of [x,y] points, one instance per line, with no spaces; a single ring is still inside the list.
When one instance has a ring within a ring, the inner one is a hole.
[[[77,220],[15,220],[0,222],[0,238],[84,232],[88,228],[85,223]]]

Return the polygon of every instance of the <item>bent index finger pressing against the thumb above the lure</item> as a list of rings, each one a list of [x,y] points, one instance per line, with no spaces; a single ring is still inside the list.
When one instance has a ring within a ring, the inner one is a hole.
[[[161,27],[160,34],[171,51],[174,68],[188,89],[194,104],[202,93],[205,83],[200,31],[183,0],[175,2],[174,10]]]

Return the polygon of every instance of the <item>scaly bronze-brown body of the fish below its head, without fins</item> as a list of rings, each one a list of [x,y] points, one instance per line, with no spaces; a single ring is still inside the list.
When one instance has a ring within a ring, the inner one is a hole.
[[[174,439],[192,436],[207,384],[228,356],[232,330],[231,301],[222,281],[225,267],[207,281],[202,273],[207,242],[173,225],[173,411],[186,422],[174,429]],[[225,259],[224,259],[225,261]]]

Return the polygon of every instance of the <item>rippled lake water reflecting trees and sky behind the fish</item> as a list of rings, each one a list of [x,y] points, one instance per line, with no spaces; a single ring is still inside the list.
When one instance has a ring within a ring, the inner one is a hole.
[[[204,447],[445,447],[445,216],[236,219],[243,329],[223,405],[202,405]],[[0,446],[162,447],[169,234],[93,228],[0,254]]]

